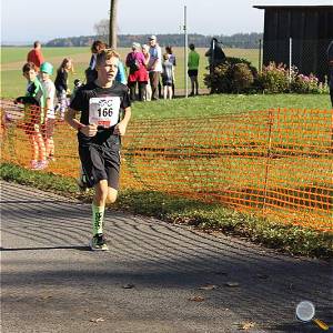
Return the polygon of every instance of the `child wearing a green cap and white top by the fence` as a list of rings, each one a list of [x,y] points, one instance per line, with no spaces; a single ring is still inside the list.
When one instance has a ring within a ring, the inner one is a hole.
[[[46,128],[44,128],[44,142],[47,159],[54,161],[54,123],[56,123],[56,111],[54,111],[54,99],[56,99],[56,87],[51,80],[53,74],[53,65],[50,62],[43,62],[40,67],[41,83],[43,87],[43,98],[46,108]]]

